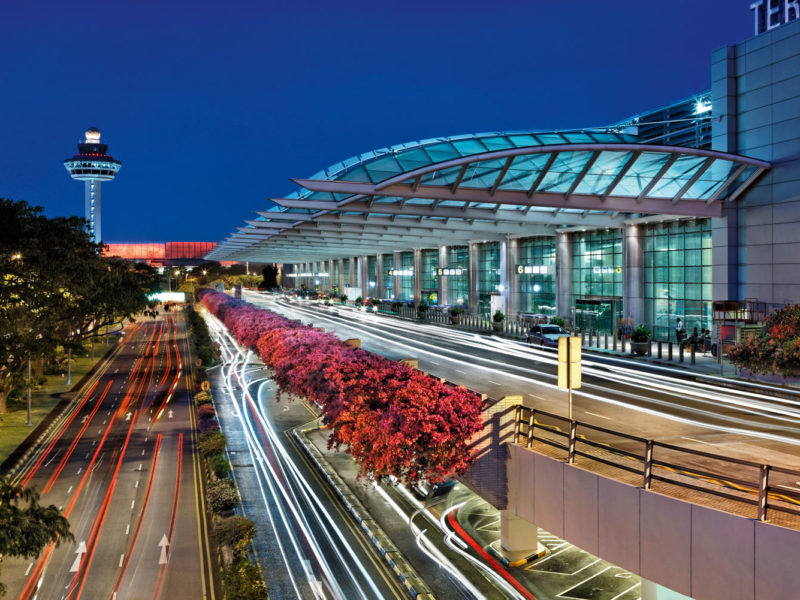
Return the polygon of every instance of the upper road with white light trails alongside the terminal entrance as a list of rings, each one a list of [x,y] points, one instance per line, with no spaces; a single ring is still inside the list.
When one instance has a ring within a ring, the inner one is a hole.
[[[494,398],[521,394],[528,406],[566,415],[556,354],[522,342],[454,328],[279,300],[247,293],[257,306],[313,322],[338,337],[390,358],[413,357],[419,368]],[[584,353],[575,418],[631,435],[705,452],[725,452],[797,468],[800,391],[738,384],[687,369],[648,366]]]

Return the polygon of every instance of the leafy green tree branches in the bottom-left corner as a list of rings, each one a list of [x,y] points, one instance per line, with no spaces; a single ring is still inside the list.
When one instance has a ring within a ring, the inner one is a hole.
[[[0,560],[4,556],[33,558],[45,546],[74,542],[69,522],[51,504],[39,504],[39,493],[0,478]],[[0,583],[0,596],[5,586]]]

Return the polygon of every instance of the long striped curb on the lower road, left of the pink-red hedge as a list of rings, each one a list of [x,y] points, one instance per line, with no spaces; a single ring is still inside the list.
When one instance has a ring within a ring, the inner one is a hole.
[[[380,525],[378,525],[369,512],[367,512],[364,505],[361,504],[361,501],[353,494],[347,483],[333,470],[328,461],[325,460],[322,452],[308,441],[305,434],[315,429],[316,428],[295,429],[292,431],[292,435],[300,442],[303,450],[305,450],[306,454],[308,454],[309,458],[314,462],[317,470],[322,473],[336,492],[336,495],[339,496],[339,499],[342,501],[347,511],[353,515],[356,523],[358,523],[372,542],[372,545],[383,557],[383,560],[391,567],[398,579],[400,579],[401,583],[406,588],[406,592],[408,592],[408,597],[416,600],[435,600],[435,596],[430,588],[428,588],[425,582],[417,575],[414,567],[411,566],[405,556],[400,553],[391,539],[384,533]]]

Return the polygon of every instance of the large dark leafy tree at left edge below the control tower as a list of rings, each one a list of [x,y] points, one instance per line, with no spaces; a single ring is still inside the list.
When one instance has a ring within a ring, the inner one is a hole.
[[[146,305],[154,271],[101,256],[86,221],[0,198],[0,413],[29,358],[119,325]]]

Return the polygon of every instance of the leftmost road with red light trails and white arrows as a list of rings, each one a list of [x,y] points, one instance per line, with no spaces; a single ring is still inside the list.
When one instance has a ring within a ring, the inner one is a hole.
[[[75,544],[4,561],[9,598],[214,598],[183,319],[127,330],[15,476]]]

